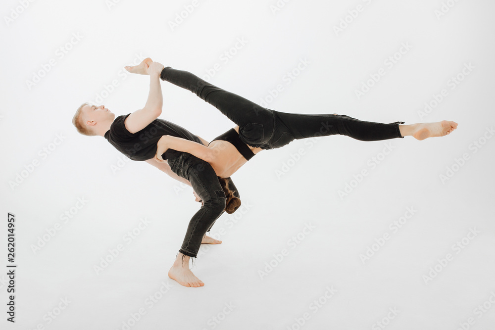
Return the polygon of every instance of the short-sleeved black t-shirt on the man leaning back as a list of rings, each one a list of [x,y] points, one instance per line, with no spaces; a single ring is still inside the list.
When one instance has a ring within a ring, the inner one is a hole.
[[[163,135],[171,135],[202,144],[196,135],[185,128],[158,118],[141,131],[131,133],[125,128],[124,124],[129,115],[130,113],[116,117],[110,129],[106,131],[105,139],[131,160],[144,161],[153,158],[156,154],[156,143]],[[180,153],[182,152],[168,149],[162,157],[163,159],[171,159],[177,157]]]

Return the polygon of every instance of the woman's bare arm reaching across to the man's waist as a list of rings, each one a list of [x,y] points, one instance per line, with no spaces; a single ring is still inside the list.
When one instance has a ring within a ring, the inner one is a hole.
[[[158,162],[164,162],[161,155],[167,151],[167,149],[174,149],[177,151],[188,152],[205,162],[210,162],[213,159],[213,152],[210,148],[195,141],[189,141],[170,135],[164,135],[158,140],[156,144],[156,154],[153,157]]]

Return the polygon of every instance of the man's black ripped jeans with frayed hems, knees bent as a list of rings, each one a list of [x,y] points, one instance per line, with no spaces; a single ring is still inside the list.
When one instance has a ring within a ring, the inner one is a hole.
[[[168,159],[167,162],[175,174],[191,183],[194,191],[203,201],[201,208],[189,222],[179,250],[184,255],[196,257],[204,234],[210,231],[211,226],[223,214],[227,198],[209,163],[187,152],[181,152],[178,157]],[[232,179],[227,178],[227,180],[229,189],[235,191],[236,197],[240,197]]]

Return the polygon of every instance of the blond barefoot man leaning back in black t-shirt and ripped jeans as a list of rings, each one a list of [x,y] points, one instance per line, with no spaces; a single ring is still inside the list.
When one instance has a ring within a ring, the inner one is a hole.
[[[72,123],[77,131],[87,136],[101,136],[109,141],[117,150],[132,160],[146,161],[170,177],[183,182],[194,189],[196,201],[202,203],[201,208],[191,219],[186,236],[168,276],[184,286],[203,286],[189,269],[189,260],[195,258],[201,243],[218,244],[221,241],[206,236],[213,223],[224,212],[226,195],[215,171],[210,164],[186,152],[169,149],[163,159],[174,159],[174,168],[167,162],[153,159],[156,143],[163,135],[175,136],[204,145],[208,142],[193,135],[186,129],[158,119],[162,111],[163,97],[160,86],[160,73],[163,65],[144,59],[139,65],[126,67],[131,73],[149,75],[148,100],[142,109],[125,116],[115,117],[104,105],[95,106],[83,103],[76,111]],[[178,175],[179,173],[180,175]],[[230,178],[229,189],[237,189]],[[182,260],[182,262],[181,262]],[[185,261],[185,262],[184,262]]]

